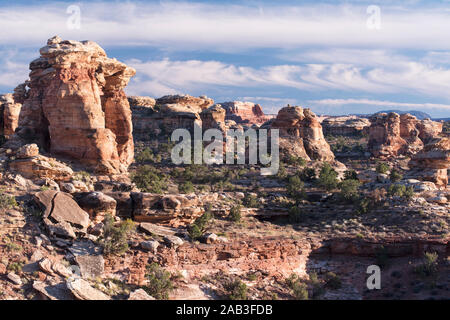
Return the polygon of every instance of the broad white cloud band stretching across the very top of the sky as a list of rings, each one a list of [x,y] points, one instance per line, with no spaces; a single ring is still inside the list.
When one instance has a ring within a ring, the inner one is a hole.
[[[67,4],[0,8],[0,44],[42,44],[56,33],[103,45],[238,51],[304,46],[449,50],[449,11],[382,5],[381,30],[366,27],[365,5],[82,2],[81,29],[68,30]],[[413,36],[412,36],[413,35]]]

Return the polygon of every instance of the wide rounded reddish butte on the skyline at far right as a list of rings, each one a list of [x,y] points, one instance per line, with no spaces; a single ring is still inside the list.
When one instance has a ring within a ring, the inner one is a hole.
[[[415,154],[442,132],[442,123],[420,121],[410,114],[379,113],[370,121],[368,148],[376,157]]]

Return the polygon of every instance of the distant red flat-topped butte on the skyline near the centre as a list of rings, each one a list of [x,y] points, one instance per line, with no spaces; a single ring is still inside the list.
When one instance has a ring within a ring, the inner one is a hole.
[[[236,123],[263,124],[273,119],[274,115],[265,115],[259,104],[253,102],[231,101],[221,103],[226,111],[226,119]]]

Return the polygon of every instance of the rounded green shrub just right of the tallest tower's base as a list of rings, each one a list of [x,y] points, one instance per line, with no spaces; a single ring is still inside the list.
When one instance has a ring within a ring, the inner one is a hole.
[[[131,179],[144,192],[161,194],[167,189],[166,177],[152,166],[139,167]]]

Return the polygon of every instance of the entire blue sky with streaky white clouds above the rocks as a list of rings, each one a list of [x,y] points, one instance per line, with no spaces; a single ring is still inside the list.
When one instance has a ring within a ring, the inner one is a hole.
[[[0,30],[0,93],[59,35],[134,67],[130,95],[450,117],[450,0],[0,0]]]

